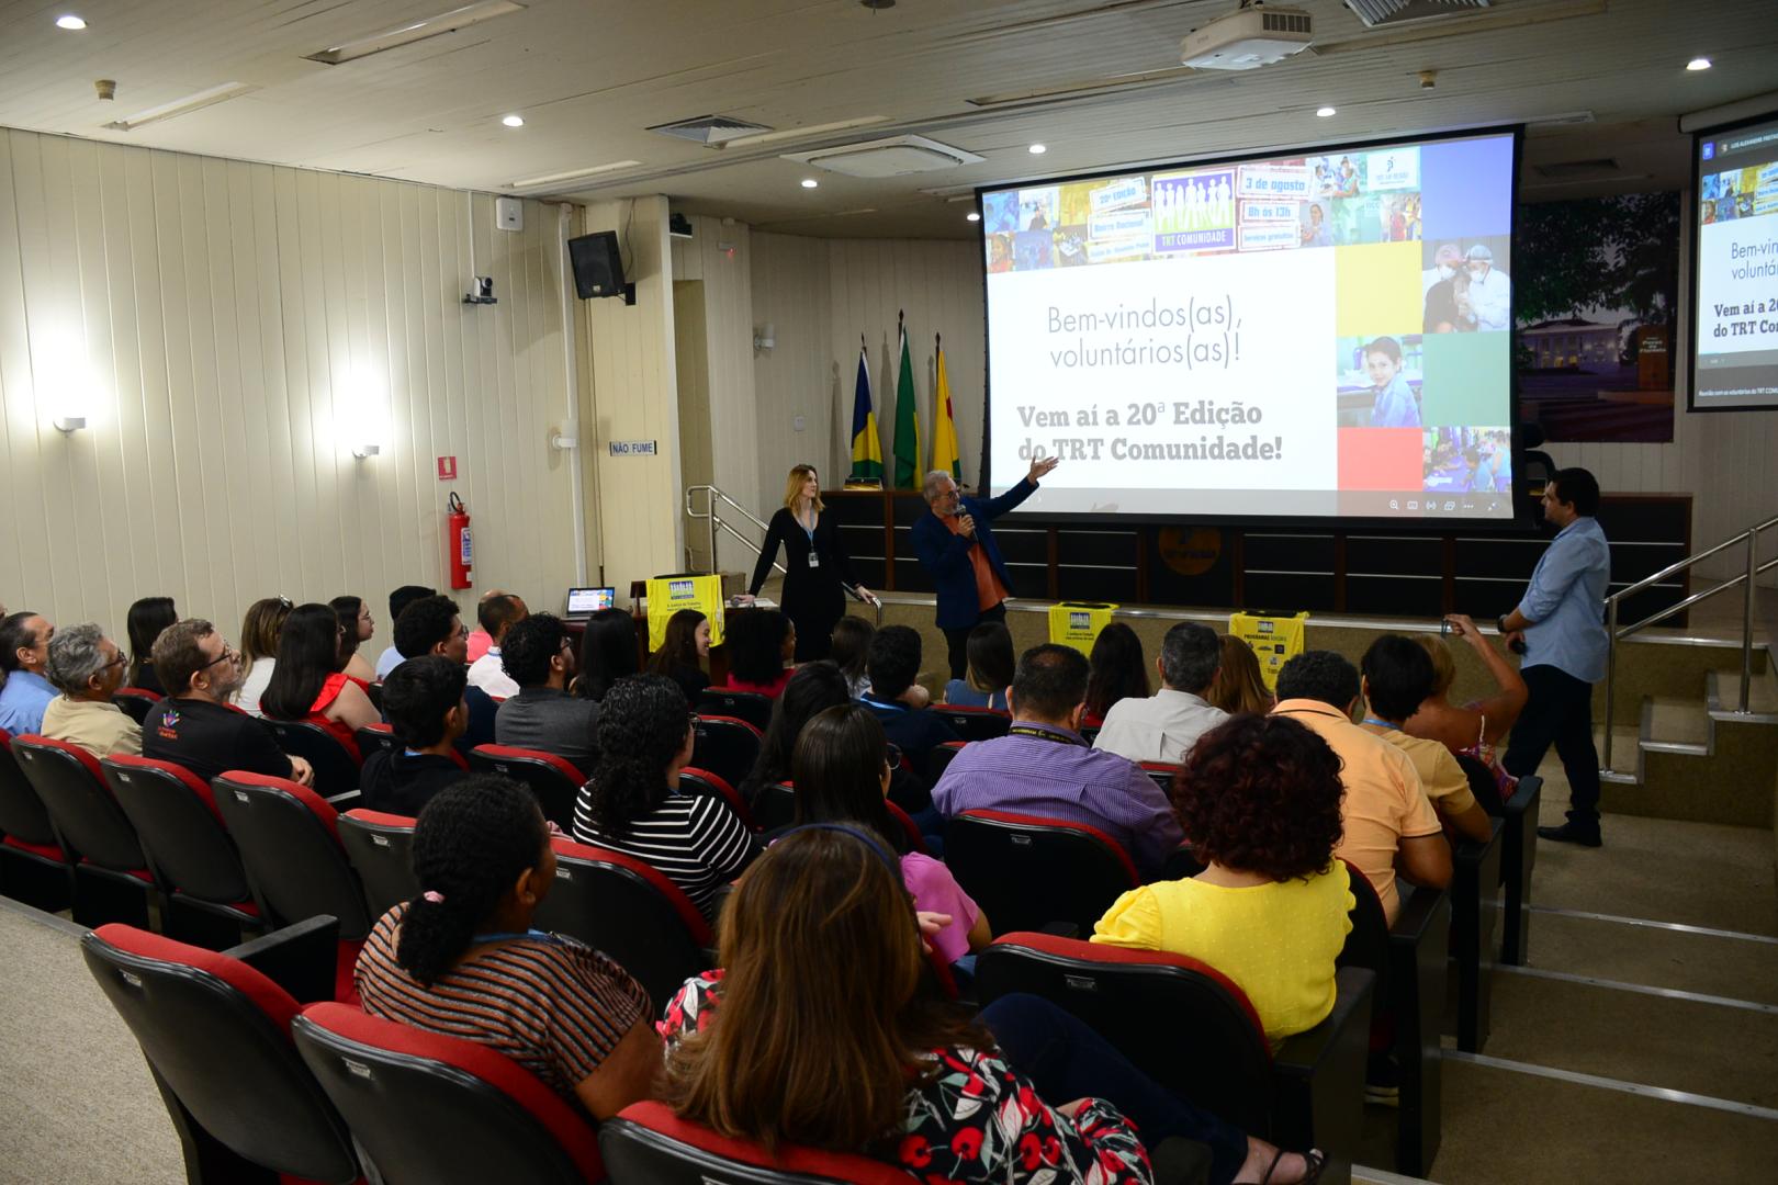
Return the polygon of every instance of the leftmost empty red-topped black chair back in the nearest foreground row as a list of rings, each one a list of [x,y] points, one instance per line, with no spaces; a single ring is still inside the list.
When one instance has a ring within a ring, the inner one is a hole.
[[[249,1165],[268,1181],[359,1180],[345,1123],[290,1043],[297,1002],[283,988],[228,954],[130,926],[101,926],[80,952],[148,1057],[190,1180],[254,1180]],[[210,1141],[249,1164],[215,1164]]]

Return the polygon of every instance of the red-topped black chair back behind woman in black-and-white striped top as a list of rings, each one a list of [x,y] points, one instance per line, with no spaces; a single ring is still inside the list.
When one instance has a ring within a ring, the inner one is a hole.
[[[603,847],[557,839],[557,883],[535,924],[580,938],[617,959],[656,1009],[709,968],[709,922],[658,869]]]

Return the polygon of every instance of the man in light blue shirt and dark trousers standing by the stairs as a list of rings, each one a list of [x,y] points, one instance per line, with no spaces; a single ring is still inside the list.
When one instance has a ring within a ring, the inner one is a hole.
[[[1520,675],[1531,700],[1513,725],[1501,764],[1513,776],[1536,773],[1550,743],[1568,773],[1568,823],[1538,828],[1563,844],[1598,847],[1598,750],[1593,748],[1593,684],[1606,677],[1606,585],[1611,545],[1598,529],[1598,481],[1586,469],[1559,469],[1543,487],[1543,517],[1556,540],[1531,572],[1518,608],[1497,622],[1508,645],[1524,643]]]

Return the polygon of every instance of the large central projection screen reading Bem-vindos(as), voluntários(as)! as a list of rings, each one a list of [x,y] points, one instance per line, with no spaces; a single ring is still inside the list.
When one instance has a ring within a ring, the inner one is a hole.
[[[1513,517],[1517,133],[981,190],[989,474],[1147,521]]]

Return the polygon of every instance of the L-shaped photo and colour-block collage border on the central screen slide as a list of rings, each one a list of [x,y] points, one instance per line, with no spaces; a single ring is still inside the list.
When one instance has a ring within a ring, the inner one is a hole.
[[[1332,251],[1339,489],[1486,510],[1511,490],[1511,137],[1478,137],[989,192],[987,270]]]

